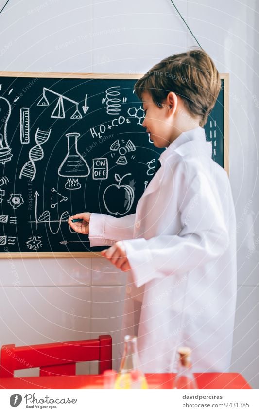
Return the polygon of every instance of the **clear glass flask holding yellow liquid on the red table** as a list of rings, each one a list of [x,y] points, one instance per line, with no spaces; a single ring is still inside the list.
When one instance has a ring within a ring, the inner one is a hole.
[[[124,353],[120,372],[115,380],[115,389],[148,389],[147,380],[140,370],[137,337],[124,337]]]

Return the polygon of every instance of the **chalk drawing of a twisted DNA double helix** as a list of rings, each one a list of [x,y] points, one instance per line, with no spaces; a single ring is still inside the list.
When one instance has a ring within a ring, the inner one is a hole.
[[[31,182],[34,180],[36,175],[35,162],[43,159],[44,152],[41,145],[45,144],[48,141],[50,134],[51,129],[48,132],[45,132],[44,130],[40,130],[39,128],[37,128],[35,133],[36,145],[30,149],[28,155],[29,161],[27,161],[21,168],[19,179],[21,179],[22,177],[26,177],[30,178]]]

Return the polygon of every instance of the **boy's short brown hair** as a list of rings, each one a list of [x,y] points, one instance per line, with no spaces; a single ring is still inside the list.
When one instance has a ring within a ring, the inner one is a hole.
[[[158,105],[163,103],[169,92],[174,92],[181,97],[190,116],[200,117],[200,126],[206,124],[220,88],[219,72],[203,49],[191,49],[166,57],[134,86],[140,100],[142,93],[148,92]]]

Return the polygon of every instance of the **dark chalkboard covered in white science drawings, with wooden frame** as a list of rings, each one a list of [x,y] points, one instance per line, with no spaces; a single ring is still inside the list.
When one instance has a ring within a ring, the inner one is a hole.
[[[70,215],[132,214],[161,150],[141,126],[141,75],[0,73],[0,256],[99,255]],[[228,168],[227,75],[205,126]]]

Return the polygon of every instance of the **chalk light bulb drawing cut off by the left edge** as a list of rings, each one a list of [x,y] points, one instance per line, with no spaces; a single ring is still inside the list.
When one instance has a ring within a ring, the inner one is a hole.
[[[10,92],[9,92],[10,94]],[[0,163],[5,164],[11,161],[11,148],[7,142],[7,124],[11,116],[12,107],[10,102],[0,96]]]

